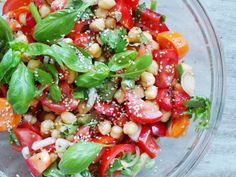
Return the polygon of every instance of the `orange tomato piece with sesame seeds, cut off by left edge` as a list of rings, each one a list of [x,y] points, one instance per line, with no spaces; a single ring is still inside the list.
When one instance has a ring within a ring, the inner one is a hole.
[[[11,105],[5,98],[0,98],[0,132],[19,125],[21,116],[14,114]]]

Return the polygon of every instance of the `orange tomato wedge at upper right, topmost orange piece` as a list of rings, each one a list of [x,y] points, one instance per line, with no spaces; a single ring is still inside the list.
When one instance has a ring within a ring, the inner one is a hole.
[[[182,58],[189,51],[189,45],[184,36],[177,32],[163,32],[157,35],[157,40],[162,49],[174,48],[179,58]]]

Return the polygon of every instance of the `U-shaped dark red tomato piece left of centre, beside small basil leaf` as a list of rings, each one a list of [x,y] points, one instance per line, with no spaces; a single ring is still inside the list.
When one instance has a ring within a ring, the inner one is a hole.
[[[69,84],[66,81],[62,81],[60,82],[59,87],[62,91],[62,101],[53,102],[52,100],[47,99],[47,95],[44,92],[39,98],[41,104],[50,111],[56,113],[75,110],[78,107],[79,100],[73,98]]]

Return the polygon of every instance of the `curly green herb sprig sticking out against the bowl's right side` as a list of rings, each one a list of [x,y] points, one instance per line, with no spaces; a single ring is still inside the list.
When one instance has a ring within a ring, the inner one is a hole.
[[[190,115],[194,122],[199,120],[199,124],[195,127],[197,130],[210,127],[211,101],[208,98],[194,97],[185,102],[185,106],[187,107],[185,114]]]

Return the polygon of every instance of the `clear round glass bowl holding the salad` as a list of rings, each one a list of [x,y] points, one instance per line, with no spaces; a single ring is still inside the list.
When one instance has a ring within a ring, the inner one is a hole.
[[[149,4],[150,1],[146,1]],[[155,168],[143,171],[139,177],[188,176],[207,152],[208,146],[220,124],[224,103],[224,61],[215,30],[202,5],[197,0],[158,0],[158,12],[165,14],[172,31],[184,34],[190,44],[186,63],[193,67],[196,77],[196,95],[212,101],[211,128],[196,132],[194,124],[185,137],[162,138],[161,152]],[[0,176],[29,177],[21,153],[12,151],[7,134],[0,134]]]

